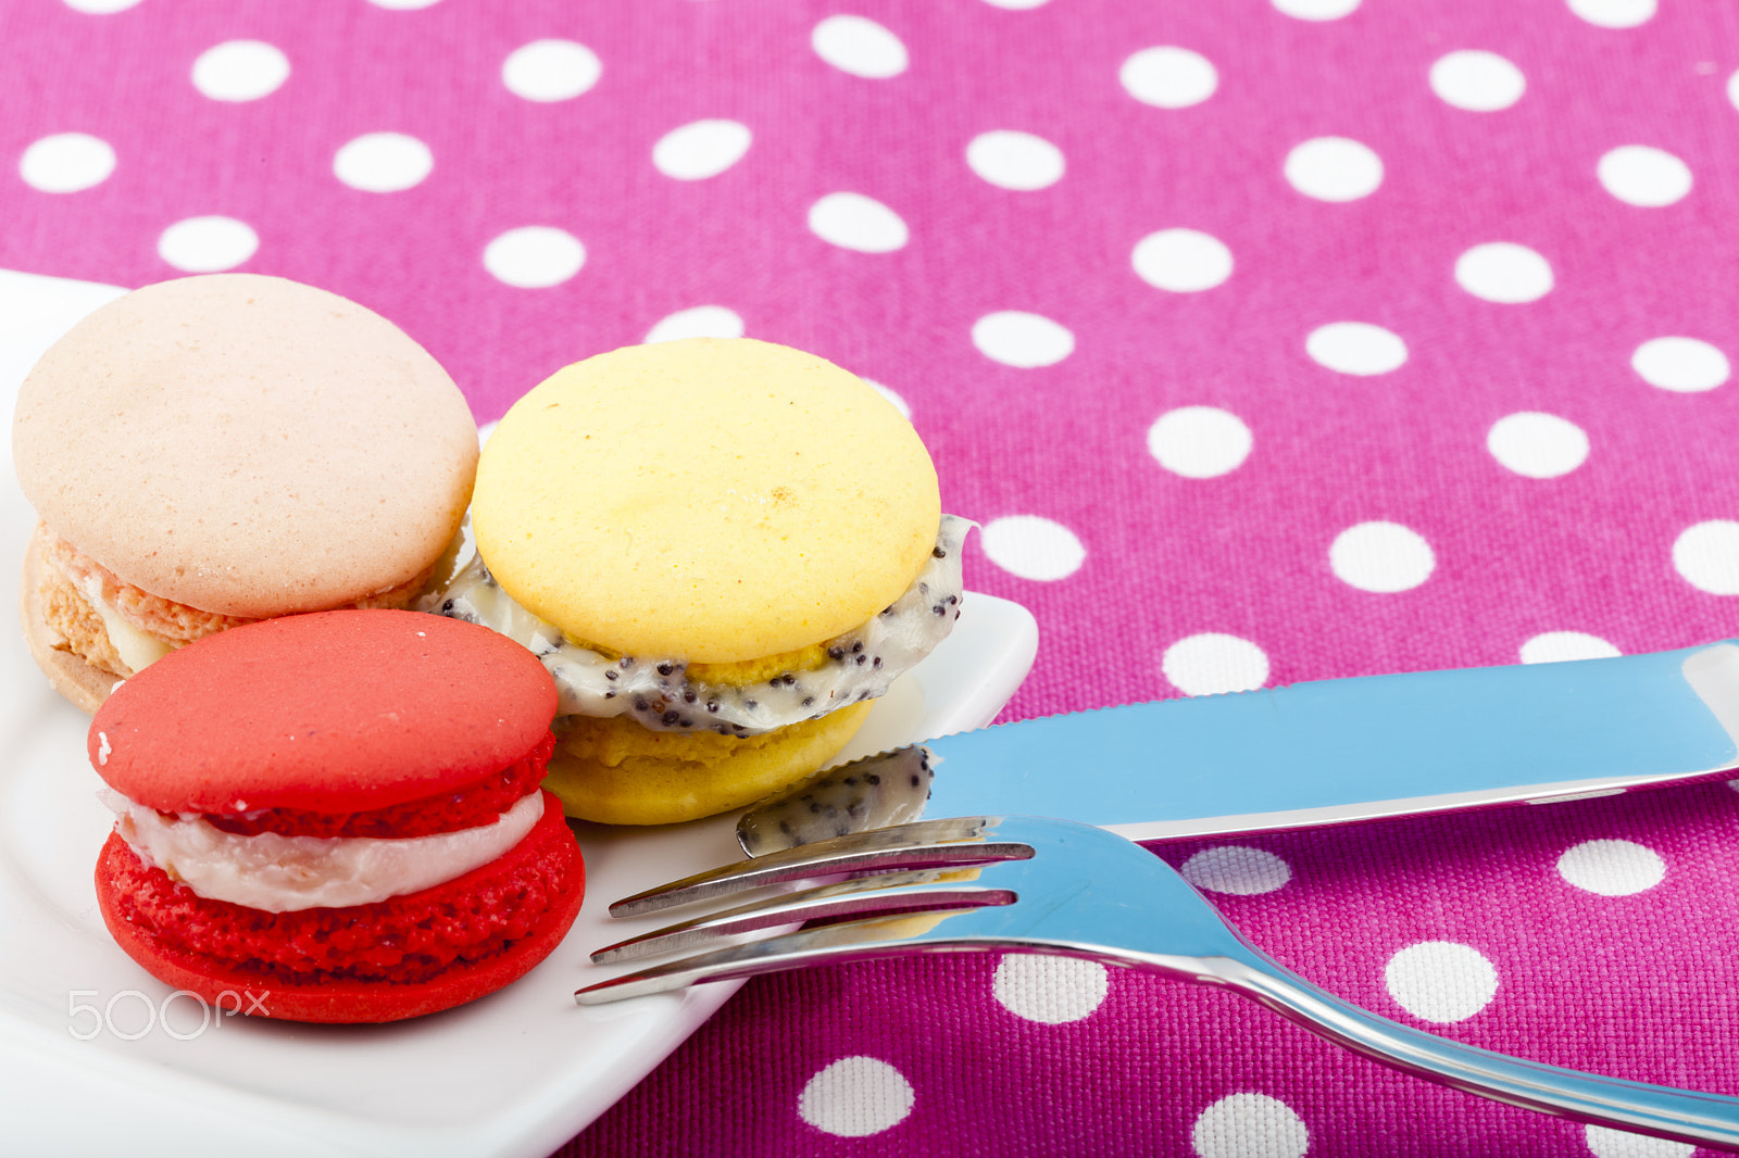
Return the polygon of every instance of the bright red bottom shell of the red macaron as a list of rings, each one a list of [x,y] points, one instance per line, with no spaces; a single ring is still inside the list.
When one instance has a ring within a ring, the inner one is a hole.
[[[230,1010],[240,1003],[242,1012],[247,1012],[254,1005],[242,998],[242,995],[254,995],[263,1005],[263,1010],[257,1012],[280,1021],[350,1024],[421,1017],[464,1005],[518,981],[562,944],[562,937],[567,935],[567,930],[579,916],[586,892],[586,871],[579,845],[574,843],[560,815],[555,802],[546,798],[544,821],[515,850],[506,854],[506,857],[529,855],[532,847],[541,843],[537,836],[548,838],[550,831],[556,828],[562,829],[556,835],[565,838],[565,847],[572,849],[572,859],[567,862],[558,902],[544,913],[536,930],[515,941],[503,953],[490,955],[480,962],[456,962],[447,972],[414,984],[353,979],[294,982],[228,967],[198,953],[167,944],[153,935],[151,930],[125,920],[120,913],[120,895],[113,885],[117,875],[110,864],[115,857],[134,857],[134,854],[115,835],[110,836],[97,859],[97,908],[115,942],[127,956],[143,965],[158,981],[176,989],[197,993],[214,1008]],[[475,871],[482,873],[487,868]],[[457,878],[452,885],[463,888],[464,880]]]

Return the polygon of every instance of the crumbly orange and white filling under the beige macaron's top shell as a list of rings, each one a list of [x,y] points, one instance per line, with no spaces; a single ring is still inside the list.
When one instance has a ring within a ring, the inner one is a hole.
[[[151,595],[120,579],[42,522],[37,523],[37,544],[43,562],[40,584],[49,626],[66,640],[68,650],[110,675],[134,676],[177,647],[254,622]],[[433,572],[430,565],[409,582],[348,607],[409,607]]]

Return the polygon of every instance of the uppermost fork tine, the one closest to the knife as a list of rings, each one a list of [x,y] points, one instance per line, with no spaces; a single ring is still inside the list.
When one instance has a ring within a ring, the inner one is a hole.
[[[996,817],[951,817],[817,840],[812,845],[770,852],[753,861],[737,861],[636,892],[612,904],[610,916],[638,916],[692,901],[816,876],[1021,861],[1033,855],[1031,845],[986,838],[986,831],[993,829],[995,824]]]

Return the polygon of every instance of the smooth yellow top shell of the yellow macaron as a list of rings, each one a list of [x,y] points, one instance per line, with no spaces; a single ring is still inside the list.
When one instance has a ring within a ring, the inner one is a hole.
[[[736,662],[892,603],[936,544],[936,468],[863,379],[687,339],[558,370],[501,419],[471,523],[501,586],[574,638]]]

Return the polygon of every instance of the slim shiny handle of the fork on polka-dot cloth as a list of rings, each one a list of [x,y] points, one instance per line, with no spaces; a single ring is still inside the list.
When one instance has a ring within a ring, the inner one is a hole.
[[[1311,1033],[1429,1081],[1560,1118],[1739,1148],[1739,1099],[1560,1069],[1450,1042],[1349,1005],[1268,958],[1219,956],[1203,963],[1216,981]]]

